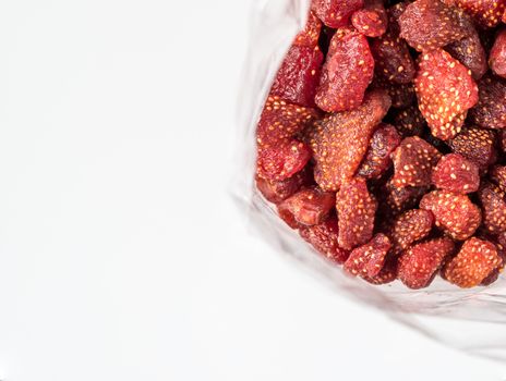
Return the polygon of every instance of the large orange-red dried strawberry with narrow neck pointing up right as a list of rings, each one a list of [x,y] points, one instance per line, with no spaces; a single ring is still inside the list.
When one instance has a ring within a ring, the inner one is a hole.
[[[385,91],[373,90],[357,110],[335,113],[314,125],[306,139],[313,150],[316,183],[337,190],[354,175],[375,126],[390,106]]]

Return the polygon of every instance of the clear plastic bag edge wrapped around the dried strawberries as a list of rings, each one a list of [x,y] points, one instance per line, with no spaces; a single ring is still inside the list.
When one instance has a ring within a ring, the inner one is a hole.
[[[238,105],[233,197],[248,223],[279,253],[296,258],[336,292],[375,306],[447,345],[506,361],[506,276],[489,287],[460,290],[436,279],[412,291],[396,281],[373,286],[346,275],[290,230],[254,186],[255,128],[273,78],[306,19],[309,0],[264,0],[254,5],[252,34]]]

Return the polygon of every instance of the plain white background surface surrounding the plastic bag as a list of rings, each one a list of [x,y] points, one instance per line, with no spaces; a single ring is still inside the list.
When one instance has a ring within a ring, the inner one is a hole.
[[[505,379],[243,228],[253,1],[0,2],[1,380]]]

